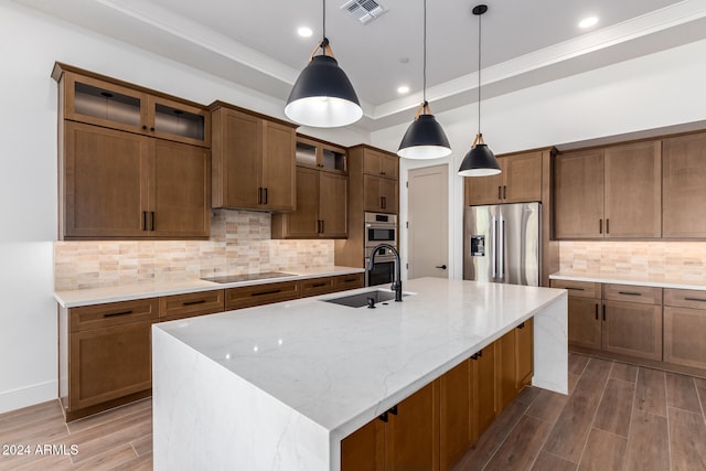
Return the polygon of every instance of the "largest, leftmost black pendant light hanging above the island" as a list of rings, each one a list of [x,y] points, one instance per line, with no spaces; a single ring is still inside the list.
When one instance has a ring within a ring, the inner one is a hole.
[[[333,57],[327,38],[327,2],[323,3],[323,39],[287,99],[285,115],[295,122],[315,128],[351,125],[363,117],[357,95],[345,72]],[[314,55],[319,50],[321,54]]]

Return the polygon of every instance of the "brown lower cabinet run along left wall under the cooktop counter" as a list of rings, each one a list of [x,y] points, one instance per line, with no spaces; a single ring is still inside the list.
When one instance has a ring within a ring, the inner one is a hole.
[[[339,275],[60,309],[60,395],[66,420],[150,395],[154,322],[362,288],[363,277]]]

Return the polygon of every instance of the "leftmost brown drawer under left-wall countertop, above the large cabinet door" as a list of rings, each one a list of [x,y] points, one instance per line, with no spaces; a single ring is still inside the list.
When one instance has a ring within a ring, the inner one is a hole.
[[[136,299],[132,301],[71,308],[68,310],[68,323],[71,332],[81,332],[110,325],[149,321],[157,319],[158,315],[158,298]]]

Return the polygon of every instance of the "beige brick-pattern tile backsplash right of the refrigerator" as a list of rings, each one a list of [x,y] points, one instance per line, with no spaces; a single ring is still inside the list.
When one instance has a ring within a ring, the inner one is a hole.
[[[706,242],[559,243],[561,271],[706,280]]]

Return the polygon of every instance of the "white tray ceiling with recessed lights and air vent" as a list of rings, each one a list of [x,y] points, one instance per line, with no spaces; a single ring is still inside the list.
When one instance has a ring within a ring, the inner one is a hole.
[[[321,0],[15,0],[285,100],[322,35]],[[368,24],[327,0],[327,35],[365,129],[406,122],[421,99],[424,0],[377,0]],[[475,100],[481,1],[428,0],[427,98],[434,113]],[[483,97],[706,39],[706,0],[488,0]],[[599,23],[580,30],[580,19]],[[313,36],[297,35],[299,26]],[[411,89],[406,96],[399,85]]]

